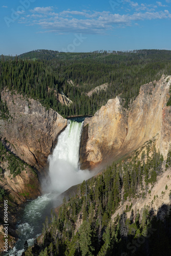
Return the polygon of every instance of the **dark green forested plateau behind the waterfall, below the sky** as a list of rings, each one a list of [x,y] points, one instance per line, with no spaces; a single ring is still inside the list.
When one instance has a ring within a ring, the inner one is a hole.
[[[171,73],[171,51],[59,53],[37,50],[16,57],[1,57],[0,90],[16,91],[37,99],[63,117],[94,114],[110,98],[120,95],[127,108],[144,83]],[[70,82],[72,80],[72,82]],[[108,87],[88,96],[101,84]],[[62,105],[63,92],[73,101]],[[5,102],[1,103],[2,105]]]

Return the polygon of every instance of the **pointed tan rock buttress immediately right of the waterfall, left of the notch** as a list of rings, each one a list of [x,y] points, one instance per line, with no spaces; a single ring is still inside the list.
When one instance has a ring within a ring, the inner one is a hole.
[[[110,99],[92,118],[86,118],[81,136],[81,168],[91,169],[116,154],[124,142],[126,129],[126,111],[118,97]]]

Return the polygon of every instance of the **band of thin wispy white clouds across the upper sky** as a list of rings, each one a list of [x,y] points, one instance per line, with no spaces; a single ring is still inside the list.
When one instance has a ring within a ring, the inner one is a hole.
[[[109,11],[97,12],[90,10],[63,10],[62,12],[57,12],[51,6],[36,7],[30,10],[30,15],[25,15],[25,19],[20,19],[19,22],[25,23],[27,26],[39,26],[41,28],[40,33],[80,32],[97,34],[104,33],[116,27],[137,26],[137,22],[141,20],[171,18],[168,10],[148,11],[149,5],[139,5],[130,0],[125,1],[136,10],[126,14],[113,14]],[[153,8],[157,7],[153,6]]]

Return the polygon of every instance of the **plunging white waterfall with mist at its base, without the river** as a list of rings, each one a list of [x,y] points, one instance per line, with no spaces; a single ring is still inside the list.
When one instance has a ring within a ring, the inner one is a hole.
[[[53,154],[49,156],[51,189],[60,193],[93,176],[89,170],[79,169],[79,145],[82,123],[69,120],[59,137]]]

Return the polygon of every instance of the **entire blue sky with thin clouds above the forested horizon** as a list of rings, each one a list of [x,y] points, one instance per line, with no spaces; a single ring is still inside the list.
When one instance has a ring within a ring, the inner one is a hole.
[[[0,54],[171,50],[171,0],[1,0]]]

